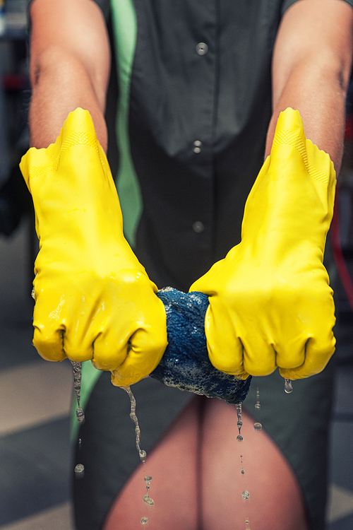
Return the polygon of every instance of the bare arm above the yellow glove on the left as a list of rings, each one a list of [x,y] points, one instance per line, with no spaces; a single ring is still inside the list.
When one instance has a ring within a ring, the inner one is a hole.
[[[92,0],[35,0],[30,14],[31,145],[53,143],[68,113],[82,107],[106,150],[110,52],[100,8]]]

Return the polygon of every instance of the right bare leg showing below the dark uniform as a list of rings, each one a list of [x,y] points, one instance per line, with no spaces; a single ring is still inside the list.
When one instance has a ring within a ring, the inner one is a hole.
[[[203,530],[307,530],[299,485],[282,453],[243,413],[237,442],[237,411],[208,400],[203,416],[201,493]],[[241,474],[243,456],[244,475]],[[248,490],[249,500],[241,493]]]

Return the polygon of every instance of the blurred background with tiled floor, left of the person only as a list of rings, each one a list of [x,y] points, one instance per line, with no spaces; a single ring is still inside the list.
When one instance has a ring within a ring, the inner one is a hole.
[[[37,254],[27,151],[26,1],[0,0],[0,527],[71,530],[72,370],[32,346]]]

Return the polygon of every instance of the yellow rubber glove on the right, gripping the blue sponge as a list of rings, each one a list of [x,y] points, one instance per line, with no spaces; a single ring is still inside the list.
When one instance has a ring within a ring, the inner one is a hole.
[[[270,156],[246,201],[241,243],[193,283],[210,296],[210,361],[245,378],[280,367],[288,379],[321,372],[335,350],[335,308],[323,266],[335,170],[306,140],[298,111],[277,121]]]

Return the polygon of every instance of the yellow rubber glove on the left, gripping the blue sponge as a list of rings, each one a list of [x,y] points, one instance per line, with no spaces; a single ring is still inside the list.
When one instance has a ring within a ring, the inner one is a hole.
[[[150,374],[167,346],[166,315],[123,235],[118,195],[92,118],[68,115],[56,142],[30,148],[20,169],[32,194],[33,343],[47,360],[91,359],[126,387]]]

